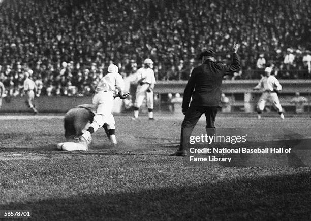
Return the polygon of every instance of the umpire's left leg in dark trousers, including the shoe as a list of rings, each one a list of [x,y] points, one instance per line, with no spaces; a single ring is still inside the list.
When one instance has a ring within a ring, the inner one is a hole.
[[[188,148],[190,136],[203,113],[204,110],[200,106],[198,107],[191,106],[187,110],[186,115],[184,116],[184,119],[181,124],[179,150],[173,155],[186,156],[187,153],[186,149]]]

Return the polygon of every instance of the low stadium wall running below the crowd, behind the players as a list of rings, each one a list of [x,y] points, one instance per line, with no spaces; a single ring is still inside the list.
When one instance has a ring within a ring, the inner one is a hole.
[[[260,96],[260,92],[254,92],[253,88],[258,83],[258,80],[225,80],[223,83],[223,92],[226,94],[232,94],[232,97],[239,97],[232,102],[233,106],[241,106],[245,112],[253,112],[255,110],[256,102]],[[308,94],[308,98],[311,93],[311,80],[281,80],[283,86],[282,92],[279,94],[281,104],[288,103],[288,100],[292,98],[295,92]],[[159,94],[155,109],[167,109],[163,108],[167,105],[164,96],[168,93],[176,94],[183,93],[186,81],[160,81],[154,88],[154,93]],[[129,84],[129,91],[135,100],[136,85]],[[310,101],[310,99],[309,99]],[[122,110],[122,100],[116,98],[114,100],[114,113],[120,113]],[[37,97],[34,102],[39,112],[51,112],[51,113],[65,113],[70,108],[73,108],[80,104],[91,104],[92,97]],[[0,112],[29,112],[28,106],[25,104],[24,97],[11,97],[10,99],[2,99],[2,107]]]

